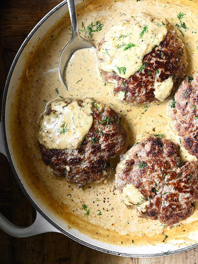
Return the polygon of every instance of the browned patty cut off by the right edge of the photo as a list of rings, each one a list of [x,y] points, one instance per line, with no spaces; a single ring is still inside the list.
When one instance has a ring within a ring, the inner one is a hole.
[[[170,115],[174,122],[170,126],[182,137],[182,146],[198,158],[198,74],[193,77],[185,79],[175,93]]]

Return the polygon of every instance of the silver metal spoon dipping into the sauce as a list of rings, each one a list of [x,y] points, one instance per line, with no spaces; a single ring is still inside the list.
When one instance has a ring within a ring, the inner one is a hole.
[[[92,47],[95,48],[90,42],[80,37],[74,0],[67,0],[67,5],[68,5],[70,20],[71,20],[72,37],[71,37],[71,40],[67,43],[67,45],[62,50],[62,53],[59,59],[59,73],[60,73],[63,84],[65,84],[65,80],[63,79],[63,76],[65,74],[64,71],[66,69],[67,62],[71,58],[72,54],[76,50],[81,50],[84,48],[92,48]]]

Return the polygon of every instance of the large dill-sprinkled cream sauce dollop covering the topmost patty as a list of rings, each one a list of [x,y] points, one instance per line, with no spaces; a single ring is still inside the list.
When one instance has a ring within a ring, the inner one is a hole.
[[[144,13],[114,24],[105,32],[105,42],[98,52],[100,68],[128,79],[140,70],[144,55],[160,44],[167,31],[167,21],[153,20]]]

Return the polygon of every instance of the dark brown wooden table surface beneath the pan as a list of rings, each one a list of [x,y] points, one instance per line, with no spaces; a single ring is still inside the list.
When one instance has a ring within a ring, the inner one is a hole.
[[[11,63],[31,29],[60,0],[0,1],[0,102]],[[33,223],[36,212],[22,193],[8,161],[0,155],[0,212],[19,226]],[[198,263],[198,248],[158,258],[127,258],[89,249],[59,233],[14,238],[0,230],[0,263],[180,264]]]

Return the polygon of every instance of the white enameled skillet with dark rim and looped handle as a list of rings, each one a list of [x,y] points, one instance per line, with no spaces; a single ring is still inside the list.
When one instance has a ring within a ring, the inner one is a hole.
[[[80,1],[76,1],[76,4],[79,2]],[[28,187],[22,175],[20,174],[15,163],[15,158],[10,143],[9,112],[12,98],[17,86],[19,76],[21,75],[23,69],[24,58],[26,54],[28,54],[28,52],[33,49],[34,43],[36,43],[36,41],[40,37],[42,37],[52,25],[55,24],[57,19],[62,17],[67,11],[67,1],[63,1],[58,6],[54,7],[54,9],[52,9],[47,15],[45,15],[45,17],[41,19],[41,21],[35,26],[35,28],[33,28],[33,30],[29,33],[28,37],[20,47],[14,59],[14,62],[12,63],[6,80],[5,90],[3,94],[2,119],[0,126],[0,152],[8,158],[15,178],[19,183],[22,191],[37,210],[37,217],[35,222],[31,226],[17,227],[10,221],[8,221],[2,214],[0,214],[0,228],[9,235],[15,237],[26,237],[45,232],[59,232],[90,248],[97,249],[105,253],[111,253],[126,257],[157,257],[163,256],[165,252],[167,252],[166,254],[174,254],[196,247],[198,244],[193,244],[188,247],[186,247],[185,245],[181,246],[182,241],[173,241],[173,243],[170,244],[161,243],[156,246],[142,245],[138,247],[124,247],[109,245],[101,241],[91,239],[90,237],[78,232],[78,230],[75,230],[73,228],[70,228],[68,230],[65,223],[62,223],[58,219],[58,217],[50,213],[49,210],[47,210],[45,206],[42,205],[42,201],[35,198],[31,189]],[[195,231],[192,236],[194,238],[198,237],[197,233],[198,232]]]

